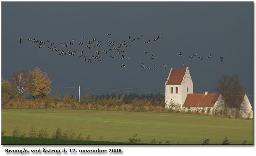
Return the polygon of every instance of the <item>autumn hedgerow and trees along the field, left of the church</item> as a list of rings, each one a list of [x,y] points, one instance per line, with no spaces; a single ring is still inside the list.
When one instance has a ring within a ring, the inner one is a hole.
[[[6,103],[3,103],[3,102]],[[165,95],[149,94],[138,95],[130,93],[129,95],[89,95],[78,97],[76,95],[65,96],[58,93],[54,96],[44,96],[37,99],[25,97],[12,97],[8,100],[1,101],[3,108],[62,108],[62,109],[84,109],[84,110],[120,110],[120,111],[154,111],[167,112],[165,108]]]

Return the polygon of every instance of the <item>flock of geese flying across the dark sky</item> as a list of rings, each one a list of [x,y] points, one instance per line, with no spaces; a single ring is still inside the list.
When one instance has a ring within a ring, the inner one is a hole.
[[[108,36],[111,36],[112,34],[107,34],[107,35],[108,35]],[[83,38],[83,39],[86,39],[87,37],[86,37],[86,36],[83,36],[82,38]],[[128,38],[127,38],[128,41],[127,41],[127,42],[130,41],[130,43],[129,43],[130,45],[129,45],[128,43],[126,43],[125,41],[123,41],[123,42],[121,42],[121,43],[118,42],[118,43],[117,43],[118,46],[115,46],[115,45],[116,45],[116,42],[115,42],[115,41],[106,40],[106,41],[107,41],[107,46],[109,46],[108,49],[104,49],[104,50],[102,49],[102,50],[100,50],[100,51],[95,50],[95,51],[94,51],[95,54],[94,54],[94,55],[91,55],[91,56],[87,56],[86,54],[84,54],[84,50],[83,50],[83,51],[81,51],[81,53],[79,53],[79,58],[84,59],[84,61],[88,61],[89,63],[91,63],[91,61],[93,61],[94,59],[98,59],[97,62],[100,63],[100,62],[101,62],[100,54],[103,54],[103,53],[106,53],[106,54],[107,54],[107,53],[110,53],[110,51],[115,50],[115,51],[117,51],[118,55],[120,55],[120,53],[122,54],[120,59],[125,59],[125,50],[123,50],[122,46],[123,46],[123,47],[127,47],[127,46],[133,47],[133,43],[135,43],[136,39],[137,39],[137,41],[138,41],[138,40],[142,40],[143,38],[144,38],[144,35],[141,35],[141,36],[135,37],[135,38],[133,38],[132,36],[128,36]],[[157,36],[156,38],[153,39],[153,41],[157,41],[157,40],[159,40],[160,38],[162,38],[162,36]],[[20,39],[19,39],[19,43],[20,43],[20,44],[23,43],[23,42],[24,42],[23,40],[24,40],[23,38],[20,38]],[[66,55],[66,54],[68,54],[68,55],[70,55],[70,56],[75,56],[75,54],[76,54],[76,51],[65,51],[65,50],[63,50],[64,48],[67,48],[68,46],[73,46],[74,43],[75,43],[75,42],[74,42],[74,41],[75,41],[74,39],[71,39],[71,40],[70,40],[69,42],[67,42],[67,43],[64,43],[64,42],[58,43],[58,45],[63,46],[63,49],[57,49],[57,48],[54,46],[54,43],[51,42],[50,40],[47,40],[46,42],[45,42],[45,41],[41,41],[41,40],[37,40],[36,38],[34,38],[34,39],[29,38],[28,40],[29,40],[29,41],[32,41],[31,43],[34,43],[34,44],[37,43],[38,46],[39,46],[39,47],[38,47],[39,49],[42,48],[42,46],[47,43],[47,44],[48,44],[47,48],[50,49],[51,51],[59,52],[59,55],[60,55],[60,56],[63,56],[63,55]],[[85,41],[85,40],[84,40],[84,41]],[[86,41],[85,41],[85,42],[86,42]],[[97,41],[97,39],[95,39],[95,38],[92,38],[90,41],[87,41],[87,42],[88,42],[88,43],[86,44],[86,47],[87,47],[88,49],[93,49],[93,48],[96,49],[96,47],[100,47],[100,46],[102,45],[102,41]],[[150,43],[150,40],[147,40],[147,41],[145,41],[144,43],[148,44],[148,43]],[[80,42],[78,43],[78,45],[79,45],[79,46],[83,46],[84,43],[80,41]],[[121,49],[121,48],[122,48],[122,49]],[[145,52],[145,55],[149,54],[148,51],[144,51],[144,52]],[[177,55],[178,55],[178,56],[182,56],[181,52],[179,52],[179,54],[177,54]],[[196,56],[197,56],[197,54],[192,54],[192,55],[190,55],[189,57],[190,57],[190,58],[194,58],[194,57],[196,57]],[[114,59],[115,56],[109,56],[109,58],[110,58],[110,59]],[[198,56],[198,58],[199,58],[200,60],[203,59],[203,57],[201,57],[201,56]],[[219,58],[220,58],[219,62],[222,63],[223,57],[219,57]],[[126,59],[130,59],[130,57],[126,57]],[[151,57],[150,59],[154,60],[154,59],[155,59],[154,55],[152,55],[152,57]],[[211,54],[209,54],[208,59],[212,59]],[[165,69],[166,69],[166,67],[167,67],[167,65],[165,65],[165,64],[163,64],[162,66],[163,66]],[[182,67],[185,67],[185,64],[182,62],[181,66],[182,66]],[[125,64],[122,63],[121,67],[125,67]],[[154,66],[152,66],[152,67],[146,67],[146,66],[142,63],[141,68],[145,68],[145,69],[151,70],[151,69],[155,69],[155,68],[156,68],[156,65],[154,64]]]

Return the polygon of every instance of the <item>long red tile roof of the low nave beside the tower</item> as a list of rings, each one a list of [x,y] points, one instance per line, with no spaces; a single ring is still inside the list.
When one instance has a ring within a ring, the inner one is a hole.
[[[183,107],[213,107],[219,94],[188,94]]]

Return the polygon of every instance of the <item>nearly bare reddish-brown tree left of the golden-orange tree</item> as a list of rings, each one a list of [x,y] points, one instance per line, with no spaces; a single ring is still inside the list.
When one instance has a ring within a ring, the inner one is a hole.
[[[27,90],[29,90],[29,75],[26,70],[18,71],[17,74],[14,74],[12,83],[20,95],[23,95]]]

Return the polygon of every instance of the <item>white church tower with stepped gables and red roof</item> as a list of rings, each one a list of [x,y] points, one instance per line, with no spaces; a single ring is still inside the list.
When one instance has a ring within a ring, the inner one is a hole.
[[[193,82],[188,67],[184,70],[171,68],[165,82],[165,107],[169,106],[171,100],[182,106],[188,94],[193,94]]]

